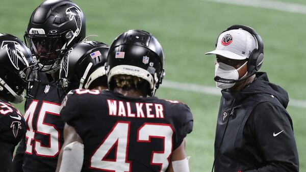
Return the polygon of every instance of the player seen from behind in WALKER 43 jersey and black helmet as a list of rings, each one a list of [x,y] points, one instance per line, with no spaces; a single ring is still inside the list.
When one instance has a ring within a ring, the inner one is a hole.
[[[162,47],[150,33],[119,35],[108,52],[110,91],[73,90],[62,102],[57,171],[188,172],[185,137],[193,117],[186,104],[154,97],[163,66]]]

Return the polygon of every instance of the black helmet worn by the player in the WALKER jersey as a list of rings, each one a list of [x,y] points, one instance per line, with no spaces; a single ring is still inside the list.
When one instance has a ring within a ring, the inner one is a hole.
[[[114,75],[133,75],[149,83],[154,96],[165,75],[164,53],[158,40],[146,31],[130,30],[119,35],[110,46],[107,60],[109,88]]]

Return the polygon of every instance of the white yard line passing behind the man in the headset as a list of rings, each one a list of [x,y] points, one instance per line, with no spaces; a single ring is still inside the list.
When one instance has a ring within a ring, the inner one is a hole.
[[[164,80],[163,84],[161,84],[161,87],[168,89],[189,91],[194,93],[202,93],[207,95],[221,96],[220,89],[217,89],[215,87],[192,84],[192,83],[182,83],[182,82]],[[295,99],[289,99],[289,100],[290,100],[289,106],[306,108],[306,101],[304,100],[295,100]]]

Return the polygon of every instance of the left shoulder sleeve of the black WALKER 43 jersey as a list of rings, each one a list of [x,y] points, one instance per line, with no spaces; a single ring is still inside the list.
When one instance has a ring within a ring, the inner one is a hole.
[[[61,104],[61,117],[64,122],[70,126],[75,126],[75,121],[79,119],[80,103],[78,94],[74,91],[70,91],[64,98]]]

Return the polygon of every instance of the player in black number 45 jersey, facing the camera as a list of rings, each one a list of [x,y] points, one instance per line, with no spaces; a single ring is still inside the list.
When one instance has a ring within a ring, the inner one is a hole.
[[[14,171],[55,171],[64,142],[60,117],[63,92],[56,85],[60,60],[84,38],[85,17],[71,1],[47,0],[32,13],[24,39],[39,63],[40,82],[25,102],[27,133],[14,158]]]

